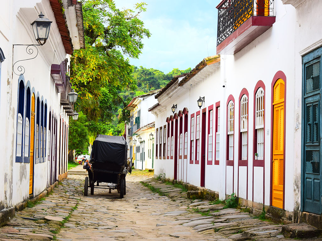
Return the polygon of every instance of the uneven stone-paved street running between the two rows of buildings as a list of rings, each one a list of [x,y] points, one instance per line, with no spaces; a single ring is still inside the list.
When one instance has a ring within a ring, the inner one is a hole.
[[[84,178],[70,175],[45,200],[16,212],[0,228],[0,240],[293,240],[281,236],[282,225],[237,209],[222,210],[221,204],[188,200],[180,188],[155,179],[128,175],[127,193],[120,199],[116,190],[109,194],[106,189],[83,196]],[[139,183],[143,180],[167,196]]]

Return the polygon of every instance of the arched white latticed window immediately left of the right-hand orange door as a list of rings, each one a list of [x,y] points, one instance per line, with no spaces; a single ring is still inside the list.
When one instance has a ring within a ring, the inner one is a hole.
[[[259,88],[255,95],[255,129],[257,129],[257,159],[264,158],[264,90]]]

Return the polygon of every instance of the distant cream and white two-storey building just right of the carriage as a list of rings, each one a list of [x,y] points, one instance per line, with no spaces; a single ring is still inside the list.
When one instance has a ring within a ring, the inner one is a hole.
[[[130,111],[130,120],[125,126],[125,138],[128,136],[128,157],[133,159],[136,169],[154,168],[154,115],[148,108],[157,103],[155,95],[159,90],[134,97],[126,107]],[[150,135],[152,133],[152,135]]]

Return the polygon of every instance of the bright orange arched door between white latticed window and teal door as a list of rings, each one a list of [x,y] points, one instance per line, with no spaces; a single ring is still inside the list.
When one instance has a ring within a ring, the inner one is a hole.
[[[284,183],[284,81],[274,85],[272,206],[283,208]]]

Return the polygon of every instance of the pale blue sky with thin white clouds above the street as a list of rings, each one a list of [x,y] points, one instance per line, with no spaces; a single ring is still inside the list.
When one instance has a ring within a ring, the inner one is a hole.
[[[174,68],[194,68],[203,58],[216,54],[217,9],[220,0],[142,0],[148,5],[140,14],[151,33],[143,40],[137,67],[165,74]],[[132,8],[140,0],[115,0],[118,8]]]

